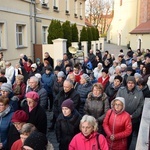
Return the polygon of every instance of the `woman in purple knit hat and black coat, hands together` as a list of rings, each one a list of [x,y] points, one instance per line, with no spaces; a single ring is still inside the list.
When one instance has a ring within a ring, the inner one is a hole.
[[[55,133],[59,150],[68,150],[71,139],[79,132],[81,115],[74,108],[74,103],[70,98],[63,101],[61,108],[62,113],[57,118]]]

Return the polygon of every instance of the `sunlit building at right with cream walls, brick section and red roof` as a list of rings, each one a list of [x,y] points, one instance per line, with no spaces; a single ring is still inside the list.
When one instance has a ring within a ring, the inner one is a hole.
[[[114,0],[114,18],[107,40],[133,50],[149,49],[150,0]]]

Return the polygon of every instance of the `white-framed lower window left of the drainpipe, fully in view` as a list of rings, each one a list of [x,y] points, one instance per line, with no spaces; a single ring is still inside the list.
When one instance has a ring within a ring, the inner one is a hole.
[[[26,46],[26,26],[23,24],[16,25],[16,44],[17,48]]]

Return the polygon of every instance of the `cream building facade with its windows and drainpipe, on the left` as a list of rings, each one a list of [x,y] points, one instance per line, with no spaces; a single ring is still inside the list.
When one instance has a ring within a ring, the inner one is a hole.
[[[85,26],[85,0],[1,0],[0,51],[18,62],[20,54],[33,58],[34,44],[47,44],[52,19]]]

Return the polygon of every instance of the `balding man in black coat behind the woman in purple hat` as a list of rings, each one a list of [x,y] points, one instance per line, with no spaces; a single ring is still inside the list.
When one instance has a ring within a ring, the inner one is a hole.
[[[69,79],[66,79],[63,84],[63,90],[56,95],[56,98],[54,100],[54,116],[52,120],[52,124],[49,128],[49,130],[54,129],[54,125],[56,122],[56,118],[61,113],[61,104],[64,100],[71,98],[71,100],[74,102],[74,107],[79,110],[80,107],[80,95],[79,93],[74,89],[73,82]]]

